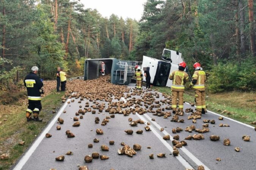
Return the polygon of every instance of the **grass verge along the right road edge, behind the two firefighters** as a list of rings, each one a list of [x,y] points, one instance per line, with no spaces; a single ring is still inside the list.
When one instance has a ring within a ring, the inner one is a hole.
[[[171,95],[171,89],[168,87],[152,87],[152,89]],[[186,90],[184,100],[194,103],[194,91]],[[206,106],[207,110],[214,111],[215,113],[222,114],[246,124],[256,121],[255,92],[231,91],[212,94],[206,91]]]

